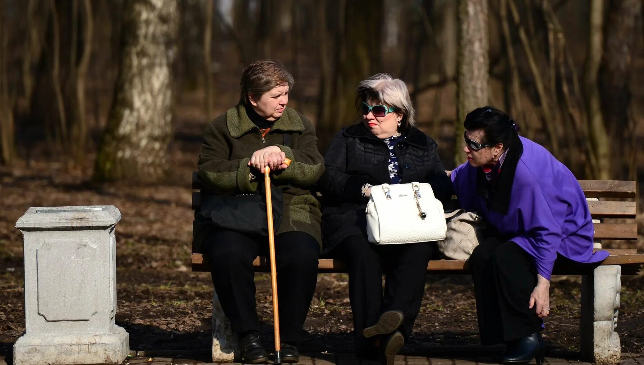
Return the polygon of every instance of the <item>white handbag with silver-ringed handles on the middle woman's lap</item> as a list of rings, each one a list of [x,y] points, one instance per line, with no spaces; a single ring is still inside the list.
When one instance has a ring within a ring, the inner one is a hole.
[[[442,203],[429,183],[375,185],[366,204],[366,232],[371,243],[395,245],[445,239]]]

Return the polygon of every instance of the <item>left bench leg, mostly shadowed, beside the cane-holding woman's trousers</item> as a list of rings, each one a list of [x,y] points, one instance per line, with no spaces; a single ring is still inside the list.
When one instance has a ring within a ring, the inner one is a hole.
[[[217,292],[213,289],[213,362],[240,360],[242,352],[237,337],[232,333],[231,322],[223,314]]]

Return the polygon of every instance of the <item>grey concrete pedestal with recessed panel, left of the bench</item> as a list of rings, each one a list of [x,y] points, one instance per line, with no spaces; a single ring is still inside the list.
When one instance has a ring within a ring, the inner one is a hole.
[[[116,207],[30,208],[24,235],[26,331],[15,365],[120,363],[128,333],[115,324]]]

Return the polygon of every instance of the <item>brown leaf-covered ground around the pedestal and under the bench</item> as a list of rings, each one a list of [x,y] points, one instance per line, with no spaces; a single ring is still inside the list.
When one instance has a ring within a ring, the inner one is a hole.
[[[115,205],[117,225],[117,324],[132,350],[207,349],[210,346],[212,283],[209,273],[191,272],[191,171],[196,169],[203,123],[178,127],[171,144],[171,174],[153,185],[93,185],[93,155],[68,169],[45,151],[0,170],[0,355],[9,356],[24,331],[23,247],[15,221],[29,207]],[[641,242],[640,242],[641,244]],[[270,280],[257,274],[262,336],[271,344]],[[320,275],[305,323],[301,348],[352,351],[352,320],[344,274]],[[580,277],[556,277],[553,312],[545,323],[551,348],[579,350]],[[622,277],[618,333],[623,353],[644,353],[644,280]],[[478,344],[475,300],[466,276],[428,276],[421,314],[406,350]],[[573,355],[574,356],[574,355]]]

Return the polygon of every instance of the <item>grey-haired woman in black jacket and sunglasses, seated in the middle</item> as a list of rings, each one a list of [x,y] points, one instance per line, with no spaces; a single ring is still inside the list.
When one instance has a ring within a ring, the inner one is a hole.
[[[324,250],[348,268],[357,355],[378,354],[393,364],[412,333],[427,264],[437,247],[369,243],[365,207],[371,187],[427,182],[442,203],[450,200],[452,188],[436,142],[415,127],[403,80],[380,73],[360,82],[356,104],[362,120],[337,133],[318,182],[325,197]]]

